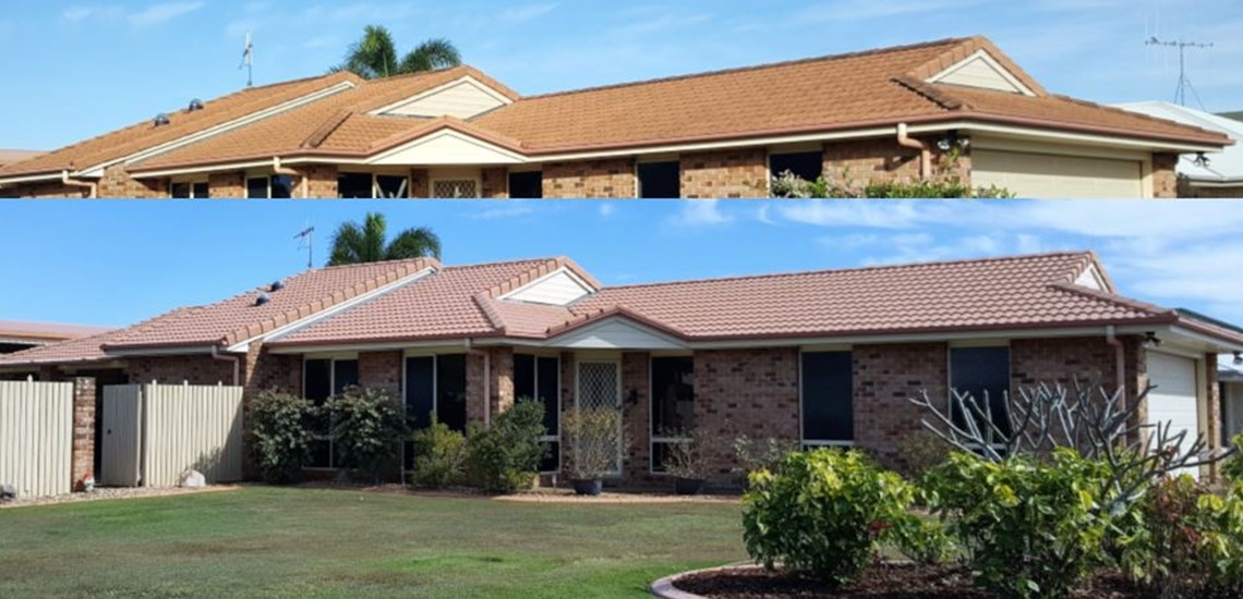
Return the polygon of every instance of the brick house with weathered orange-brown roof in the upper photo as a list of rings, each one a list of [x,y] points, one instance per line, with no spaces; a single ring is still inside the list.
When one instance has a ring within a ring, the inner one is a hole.
[[[10,164],[0,195],[755,198],[789,170],[1171,198],[1180,154],[1232,143],[1049,93],[971,37],[526,97],[469,66],[341,72],[195,99]]]

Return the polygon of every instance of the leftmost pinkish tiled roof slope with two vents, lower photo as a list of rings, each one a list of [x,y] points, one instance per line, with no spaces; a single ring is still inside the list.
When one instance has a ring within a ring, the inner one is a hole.
[[[280,291],[270,291],[268,286],[249,290],[211,306],[183,311],[175,319],[111,338],[104,350],[232,345],[439,266],[433,258],[416,258],[310,270],[282,281],[285,287]],[[256,298],[265,293],[270,301],[256,304]]]

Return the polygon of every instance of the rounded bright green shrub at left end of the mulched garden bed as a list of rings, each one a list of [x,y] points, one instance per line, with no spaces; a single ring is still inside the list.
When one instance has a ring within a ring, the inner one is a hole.
[[[751,473],[743,541],[752,559],[832,585],[854,580],[910,516],[915,490],[859,451],[792,452]]]

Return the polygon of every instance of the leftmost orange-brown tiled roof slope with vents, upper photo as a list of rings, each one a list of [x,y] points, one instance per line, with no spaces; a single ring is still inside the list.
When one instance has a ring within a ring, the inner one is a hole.
[[[353,73],[342,72],[242,89],[206,102],[201,111],[186,112],[185,108],[180,108],[169,112],[170,122],[163,127],[154,127],[152,121],[144,121],[124,129],[48,152],[30,160],[10,164],[0,168],[0,178],[97,167],[102,163],[124,158],[155,145],[246,117],[247,114],[327,89],[346,81],[357,83],[362,80]]]

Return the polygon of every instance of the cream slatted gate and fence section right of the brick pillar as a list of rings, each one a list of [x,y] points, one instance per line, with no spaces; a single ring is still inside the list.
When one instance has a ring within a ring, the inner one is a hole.
[[[172,487],[191,469],[209,483],[240,481],[241,395],[222,385],[106,386],[99,482]]]

